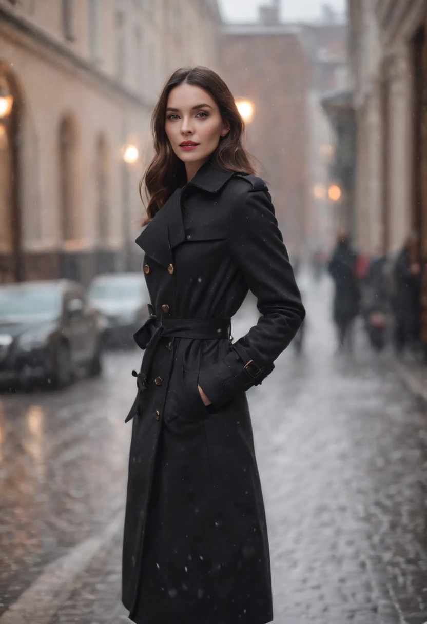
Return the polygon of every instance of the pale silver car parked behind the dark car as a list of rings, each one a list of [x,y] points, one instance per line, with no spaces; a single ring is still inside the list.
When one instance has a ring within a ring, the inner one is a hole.
[[[134,346],[132,334],[148,318],[150,295],[140,273],[103,273],[87,289],[91,306],[104,314],[106,344]]]

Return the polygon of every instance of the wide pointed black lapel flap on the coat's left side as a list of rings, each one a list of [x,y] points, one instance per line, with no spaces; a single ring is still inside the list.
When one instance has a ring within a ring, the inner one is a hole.
[[[169,243],[170,223],[176,224],[180,220],[182,225],[182,217],[180,216],[181,193],[182,189],[177,188],[170,195],[165,205],[160,208],[159,212],[155,213],[154,218],[152,218],[135,241],[150,258],[153,258],[165,267],[174,261]],[[182,227],[182,232],[184,233],[184,227]],[[182,240],[184,240],[184,234],[182,235]]]

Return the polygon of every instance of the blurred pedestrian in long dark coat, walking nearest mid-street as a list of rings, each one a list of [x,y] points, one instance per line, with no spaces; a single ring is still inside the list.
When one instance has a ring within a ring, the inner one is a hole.
[[[351,248],[350,238],[343,230],[338,232],[335,250],[329,263],[329,273],[335,283],[333,320],[338,333],[338,348],[351,348],[351,326],[359,312],[360,291],[356,277],[357,254]]]

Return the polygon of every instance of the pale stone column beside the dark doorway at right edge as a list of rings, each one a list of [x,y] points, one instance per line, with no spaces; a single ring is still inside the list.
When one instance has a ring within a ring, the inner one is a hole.
[[[389,66],[389,187],[388,252],[403,246],[411,228],[412,109],[408,47],[390,59]]]

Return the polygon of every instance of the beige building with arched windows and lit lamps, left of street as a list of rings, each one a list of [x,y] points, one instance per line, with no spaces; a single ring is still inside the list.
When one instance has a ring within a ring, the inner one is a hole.
[[[0,0],[0,281],[135,265],[151,110],[219,36],[216,0]]]

